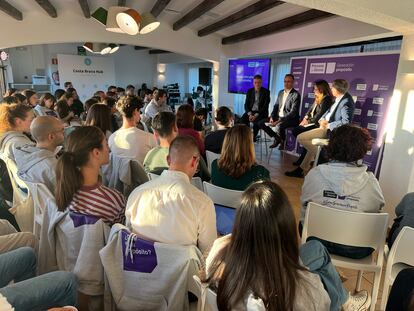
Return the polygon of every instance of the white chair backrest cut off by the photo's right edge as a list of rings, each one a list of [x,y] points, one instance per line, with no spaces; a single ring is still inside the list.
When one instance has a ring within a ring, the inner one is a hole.
[[[388,254],[388,265],[392,268],[395,263],[404,263],[410,266],[414,266],[413,256],[413,241],[414,241],[414,228],[403,227],[395,239],[390,253]]]

